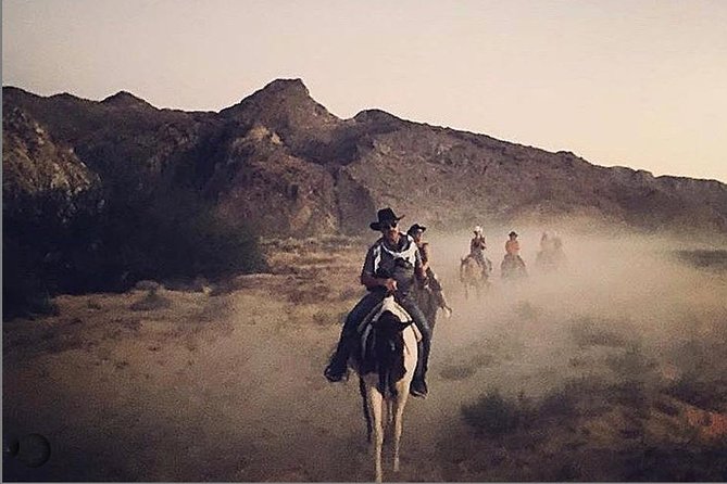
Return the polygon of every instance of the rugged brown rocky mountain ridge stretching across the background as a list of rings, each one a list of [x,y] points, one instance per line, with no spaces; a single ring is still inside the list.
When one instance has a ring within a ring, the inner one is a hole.
[[[650,230],[727,232],[727,186],[605,168],[369,110],[340,119],[300,79],[214,112],[3,88],[3,201],[91,186],[188,190],[262,234],[360,233],[390,205],[434,226],[588,217]],[[113,190],[109,193],[113,193]]]

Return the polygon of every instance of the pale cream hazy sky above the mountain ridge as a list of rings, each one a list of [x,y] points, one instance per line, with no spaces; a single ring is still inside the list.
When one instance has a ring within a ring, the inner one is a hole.
[[[220,111],[300,78],[602,166],[727,182],[727,0],[2,0],[2,84]]]

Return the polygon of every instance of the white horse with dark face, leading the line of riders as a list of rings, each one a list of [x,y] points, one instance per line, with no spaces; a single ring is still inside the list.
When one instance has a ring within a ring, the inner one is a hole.
[[[384,432],[390,424],[393,424],[393,471],[399,472],[404,406],[416,368],[417,341],[422,336],[393,296],[387,296],[360,328],[363,334],[362,351],[356,361],[359,389],[363,397],[367,438],[373,444],[376,482],[381,482]]]

